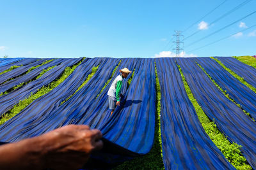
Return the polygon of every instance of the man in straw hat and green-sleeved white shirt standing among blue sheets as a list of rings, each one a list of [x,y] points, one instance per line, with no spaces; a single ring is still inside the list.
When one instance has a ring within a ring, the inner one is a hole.
[[[115,80],[111,84],[111,87],[108,90],[108,105],[109,109],[111,110],[110,115],[112,115],[116,106],[120,106],[120,92],[122,88],[122,83],[124,78],[127,78],[128,74],[131,73],[131,71],[129,71],[129,69],[127,68],[120,69],[119,71],[122,74],[115,78]]]

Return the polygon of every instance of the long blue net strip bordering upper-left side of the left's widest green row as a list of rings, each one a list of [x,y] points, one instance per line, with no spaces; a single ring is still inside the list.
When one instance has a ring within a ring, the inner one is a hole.
[[[19,103],[19,101],[28,98],[29,96],[31,96],[31,94],[35,94],[38,89],[42,88],[43,86],[49,85],[49,83],[60,77],[65,67],[73,66],[74,64],[79,62],[79,60],[81,59],[64,60],[60,65],[47,71],[35,81],[31,81],[28,84],[18,89],[15,89],[12,92],[9,92],[8,94],[0,96],[0,115],[3,115],[8,110],[12,109],[15,104]]]

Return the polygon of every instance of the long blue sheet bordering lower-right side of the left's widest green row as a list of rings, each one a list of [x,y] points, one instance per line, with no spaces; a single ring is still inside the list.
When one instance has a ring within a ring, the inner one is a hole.
[[[76,69],[63,82],[60,83],[60,85],[52,89],[44,96],[41,96],[33,101],[19,114],[1,125],[0,131],[3,131],[4,133],[0,134],[0,141],[13,142],[31,137],[26,136],[26,133],[29,133],[30,129],[33,129],[33,127],[40,122],[44,122],[45,117],[49,116],[49,113],[51,113],[52,110],[56,110],[62,101],[65,101],[65,99],[74,94],[77,88],[83,83],[84,80],[86,80],[88,74],[92,72],[92,67],[97,66],[100,62],[102,62],[102,59],[97,58],[83,60],[83,62],[77,66]],[[67,65],[67,63],[65,64]],[[63,66],[65,65],[63,64]],[[54,72],[52,73],[55,73],[60,69],[60,67],[57,69],[55,68],[56,67],[54,67]],[[49,71],[47,71],[47,73],[49,73]],[[47,77],[51,76],[48,74],[48,76],[46,75],[45,78]],[[42,78],[42,80],[44,80],[44,78]],[[36,136],[36,134],[32,135]]]

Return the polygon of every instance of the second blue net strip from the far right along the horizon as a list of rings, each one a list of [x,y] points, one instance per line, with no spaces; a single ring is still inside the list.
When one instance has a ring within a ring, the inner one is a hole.
[[[256,94],[211,58],[195,59],[228,96],[256,120]]]

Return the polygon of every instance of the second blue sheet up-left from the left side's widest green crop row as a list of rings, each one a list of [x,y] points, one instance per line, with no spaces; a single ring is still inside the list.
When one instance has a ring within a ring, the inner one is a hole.
[[[28,74],[24,74],[24,75],[20,76],[19,78],[15,78],[13,80],[7,81],[3,85],[0,85],[0,93],[10,90],[10,89],[12,89],[12,87],[19,85],[20,83],[26,83],[30,80],[33,80],[44,69],[47,69],[48,67],[52,67],[52,66],[58,66],[59,64],[61,64],[61,62],[64,62],[65,60],[68,60],[68,59],[55,59],[55,60],[48,62],[47,64],[44,64],[40,67],[36,67],[32,71],[30,71]]]

